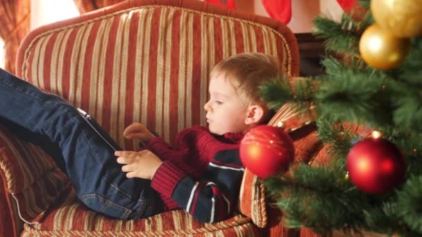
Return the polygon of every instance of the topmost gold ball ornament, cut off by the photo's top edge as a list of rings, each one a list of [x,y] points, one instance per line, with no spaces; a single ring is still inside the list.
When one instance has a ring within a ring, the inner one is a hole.
[[[372,0],[375,21],[396,37],[422,35],[421,0]]]

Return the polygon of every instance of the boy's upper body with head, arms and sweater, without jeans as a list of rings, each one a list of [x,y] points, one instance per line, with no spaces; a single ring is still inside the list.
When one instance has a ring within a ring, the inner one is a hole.
[[[182,207],[196,220],[226,218],[239,195],[244,166],[239,158],[243,134],[266,123],[270,111],[258,87],[278,76],[276,60],[260,53],[242,53],[219,62],[210,75],[210,100],[204,105],[208,129],[187,128],[170,148],[140,123],[124,136],[140,139],[149,150],[117,151],[128,178],[151,179],[167,209]]]

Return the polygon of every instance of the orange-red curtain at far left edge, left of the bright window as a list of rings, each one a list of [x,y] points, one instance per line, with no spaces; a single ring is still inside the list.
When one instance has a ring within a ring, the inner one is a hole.
[[[0,37],[4,41],[6,71],[15,73],[19,44],[31,26],[30,0],[3,0],[0,2]]]

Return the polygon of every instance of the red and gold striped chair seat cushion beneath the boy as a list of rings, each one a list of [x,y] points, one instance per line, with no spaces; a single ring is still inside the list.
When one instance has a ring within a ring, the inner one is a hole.
[[[140,220],[116,220],[90,211],[80,201],[61,204],[22,236],[260,236],[251,219],[235,214],[223,222],[197,222],[185,211],[167,211]]]

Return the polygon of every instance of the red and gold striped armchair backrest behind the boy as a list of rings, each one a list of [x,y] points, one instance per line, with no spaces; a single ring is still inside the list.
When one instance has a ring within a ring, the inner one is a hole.
[[[221,59],[255,51],[298,74],[292,32],[273,19],[196,0],[125,1],[33,30],[17,76],[89,112],[125,149],[133,121],[172,143],[205,125],[208,76]]]

